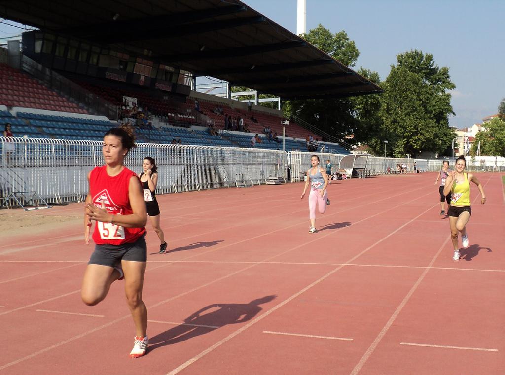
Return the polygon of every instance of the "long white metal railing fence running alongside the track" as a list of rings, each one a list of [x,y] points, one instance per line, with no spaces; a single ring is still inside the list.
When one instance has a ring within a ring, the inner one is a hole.
[[[56,203],[83,200],[88,190],[86,176],[103,165],[102,142],[61,139],[0,137],[0,197],[32,191]],[[266,183],[269,177],[302,181],[310,168],[312,153],[254,148],[207,147],[138,143],[126,164],[141,172],[145,156],[156,159],[159,171],[157,193],[245,186]],[[321,164],[330,159],[334,170],[346,155],[317,153]],[[350,156],[350,155],[349,155]],[[397,159],[368,155],[356,158],[352,168],[384,174],[389,167],[405,163],[413,172],[414,162],[422,171],[439,171],[442,160]],[[284,171],[283,165],[286,170]],[[451,163],[452,164],[452,163]],[[505,158],[480,156],[467,159],[469,171],[505,171]]]

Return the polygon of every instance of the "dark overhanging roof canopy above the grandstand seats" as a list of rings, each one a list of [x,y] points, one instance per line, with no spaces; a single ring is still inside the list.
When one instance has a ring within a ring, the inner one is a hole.
[[[0,16],[286,99],[382,89],[237,0],[4,0]]]

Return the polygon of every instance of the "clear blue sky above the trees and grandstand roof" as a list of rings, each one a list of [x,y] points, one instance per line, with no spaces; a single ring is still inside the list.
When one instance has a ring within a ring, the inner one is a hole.
[[[296,0],[244,3],[296,32]],[[447,66],[456,84],[450,124],[460,128],[497,113],[505,97],[503,15],[504,0],[307,0],[307,29],[321,23],[332,32],[345,30],[360,50],[356,69],[384,80],[396,55],[411,49]],[[0,24],[0,38],[20,31]]]

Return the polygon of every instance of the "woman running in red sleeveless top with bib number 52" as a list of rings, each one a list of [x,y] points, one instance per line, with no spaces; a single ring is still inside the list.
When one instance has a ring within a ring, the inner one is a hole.
[[[112,128],[104,136],[102,153],[105,165],[88,174],[84,239],[89,244],[92,221],[95,222],[91,254],[81,298],[89,306],[102,301],[116,280],[125,280],[125,292],[135,324],[135,342],[131,358],[147,350],[147,309],[142,301],[142,285],[147,260],[145,245],[146,212],[138,177],[124,165],[128,151],[135,147],[133,129]]]

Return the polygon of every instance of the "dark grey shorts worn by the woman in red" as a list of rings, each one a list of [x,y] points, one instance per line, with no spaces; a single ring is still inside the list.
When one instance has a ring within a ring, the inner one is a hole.
[[[88,264],[100,264],[114,267],[121,260],[134,262],[147,261],[147,245],[145,234],[135,242],[122,245],[95,245],[95,250],[89,258]]]

